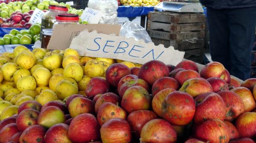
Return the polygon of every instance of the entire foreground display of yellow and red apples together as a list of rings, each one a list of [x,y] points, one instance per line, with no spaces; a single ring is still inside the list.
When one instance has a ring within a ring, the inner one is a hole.
[[[0,56],[0,143],[255,143],[255,81],[20,45]]]

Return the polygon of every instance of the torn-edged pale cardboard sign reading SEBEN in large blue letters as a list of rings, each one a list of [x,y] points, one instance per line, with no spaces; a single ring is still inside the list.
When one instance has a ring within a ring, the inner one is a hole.
[[[175,50],[172,46],[164,48],[155,46],[153,42],[145,43],[134,38],[82,31],[73,38],[70,48],[76,49],[80,56],[121,59],[144,64],[150,60],[160,60],[165,64],[177,65],[185,52]]]

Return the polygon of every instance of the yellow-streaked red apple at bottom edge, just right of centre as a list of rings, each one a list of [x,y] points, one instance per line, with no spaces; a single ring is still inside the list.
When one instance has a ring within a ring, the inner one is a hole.
[[[169,122],[153,119],[143,126],[140,137],[143,143],[175,143],[177,133]]]

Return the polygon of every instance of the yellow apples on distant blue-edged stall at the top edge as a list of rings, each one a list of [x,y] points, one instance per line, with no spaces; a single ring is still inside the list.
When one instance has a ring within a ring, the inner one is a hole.
[[[160,0],[120,0],[124,6],[156,6]]]

